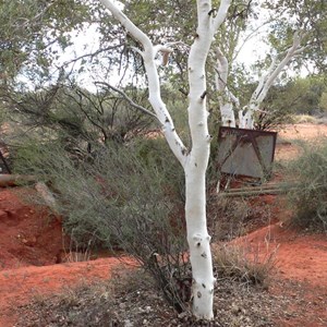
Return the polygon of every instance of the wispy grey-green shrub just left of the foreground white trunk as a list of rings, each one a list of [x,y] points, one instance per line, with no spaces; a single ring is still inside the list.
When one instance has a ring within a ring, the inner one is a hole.
[[[133,256],[182,312],[191,298],[191,271],[175,186],[183,173],[171,156],[155,140],[98,147],[84,161],[56,144],[28,144],[15,169],[48,181],[56,211],[80,250],[93,244]]]

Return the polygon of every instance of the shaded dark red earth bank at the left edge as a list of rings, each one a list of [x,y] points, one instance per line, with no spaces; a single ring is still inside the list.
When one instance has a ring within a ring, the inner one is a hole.
[[[60,219],[23,203],[32,189],[12,190],[0,192],[0,270],[56,264],[62,249]]]

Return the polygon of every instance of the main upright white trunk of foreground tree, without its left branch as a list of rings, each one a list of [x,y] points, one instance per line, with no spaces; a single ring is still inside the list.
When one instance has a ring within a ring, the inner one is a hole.
[[[210,237],[206,223],[205,172],[209,159],[209,143],[206,110],[205,63],[217,25],[226,16],[229,1],[222,1],[221,8],[213,19],[210,1],[197,1],[196,38],[191,47],[187,70],[190,82],[189,125],[192,136],[192,150],[187,156],[185,170],[186,201],[185,217],[187,242],[193,274],[193,314],[198,318],[211,319],[214,284]]]

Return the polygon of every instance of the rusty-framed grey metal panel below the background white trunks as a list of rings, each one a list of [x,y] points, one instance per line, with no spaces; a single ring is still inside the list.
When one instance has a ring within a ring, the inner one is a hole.
[[[276,132],[219,129],[218,173],[268,178],[271,174]]]

